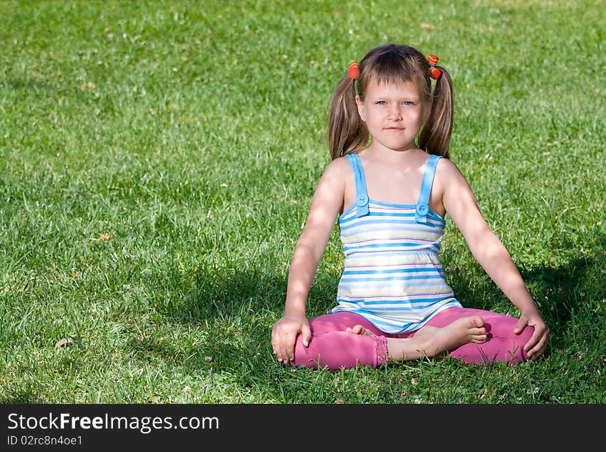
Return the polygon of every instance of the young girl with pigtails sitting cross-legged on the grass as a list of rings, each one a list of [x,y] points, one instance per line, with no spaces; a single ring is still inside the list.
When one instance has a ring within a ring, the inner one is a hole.
[[[281,363],[377,367],[445,353],[466,363],[519,363],[547,347],[549,330],[519,271],[448,158],[452,83],[437,60],[382,45],[337,86],[328,116],[332,162],[271,332]],[[454,297],[438,259],[446,213],[519,319],[463,308]],[[309,288],[337,217],[345,254],[337,305],[308,321]]]

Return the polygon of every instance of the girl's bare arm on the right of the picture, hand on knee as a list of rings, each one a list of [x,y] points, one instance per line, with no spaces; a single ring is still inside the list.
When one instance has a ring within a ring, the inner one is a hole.
[[[446,212],[465,237],[478,263],[520,310],[521,316],[514,332],[519,334],[526,325],[534,327],[534,334],[525,344],[524,350],[527,356],[536,358],[547,347],[549,329],[541,318],[532,295],[508,250],[488,227],[467,180],[457,166],[450,160],[442,159],[438,168],[440,174],[437,177],[443,184],[441,200]]]

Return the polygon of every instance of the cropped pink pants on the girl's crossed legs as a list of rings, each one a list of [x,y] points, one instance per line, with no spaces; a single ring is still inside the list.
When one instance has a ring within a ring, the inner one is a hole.
[[[436,314],[426,325],[444,327],[461,317],[481,316],[488,339],[485,343],[467,343],[450,350],[452,358],[462,359],[466,363],[492,363],[502,361],[514,364],[526,360],[523,346],[532,336],[534,328],[527,326],[520,334],[513,330],[518,319],[471,308],[448,308]],[[402,334],[387,334],[375,327],[368,320],[353,312],[334,312],[318,316],[309,321],[311,341],[304,347],[301,334],[295,343],[295,365],[313,367],[355,367],[372,365],[378,367],[388,360],[387,338],[408,338],[416,331]],[[353,334],[345,331],[346,327],[362,325],[375,336]]]

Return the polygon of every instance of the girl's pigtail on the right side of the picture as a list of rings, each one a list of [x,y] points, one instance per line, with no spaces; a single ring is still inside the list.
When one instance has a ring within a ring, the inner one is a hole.
[[[446,69],[436,66],[441,72],[432,92],[429,118],[419,136],[419,148],[427,153],[449,158],[448,147],[452,133],[452,81]]]

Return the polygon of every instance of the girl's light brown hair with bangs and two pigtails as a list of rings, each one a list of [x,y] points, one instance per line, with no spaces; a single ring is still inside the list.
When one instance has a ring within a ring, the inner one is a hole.
[[[452,81],[446,69],[437,66],[441,75],[432,89],[427,58],[409,45],[386,44],[370,50],[359,63],[355,81],[348,75],[337,85],[328,110],[328,148],[331,159],[355,153],[366,147],[370,138],[366,124],[359,117],[356,94],[364,100],[370,80],[377,83],[417,83],[424,101],[431,102],[427,122],[419,133],[417,146],[427,153],[448,158],[452,133]],[[356,87],[357,85],[357,92]]]

